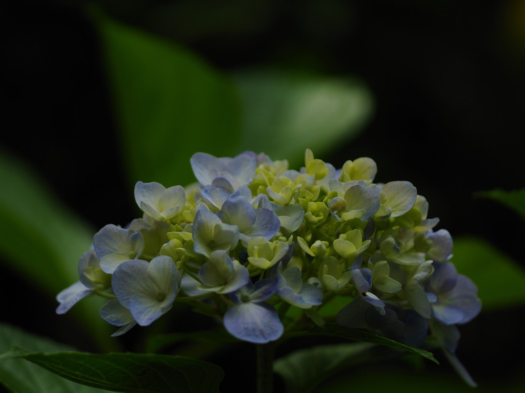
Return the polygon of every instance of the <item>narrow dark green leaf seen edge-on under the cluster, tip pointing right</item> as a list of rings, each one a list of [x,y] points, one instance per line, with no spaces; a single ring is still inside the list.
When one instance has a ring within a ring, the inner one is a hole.
[[[407,352],[421,355],[435,363],[439,363],[431,352],[422,350],[420,348],[414,348],[408,345],[404,345],[404,344],[398,343],[397,341],[387,339],[386,337],[383,337],[383,336],[380,336],[374,333],[369,333],[369,332],[365,332],[365,331],[357,330],[357,329],[344,328],[343,326],[339,326],[334,323],[327,323],[324,326],[324,328],[316,327],[316,328],[310,329],[309,331],[288,333],[284,338],[288,339],[291,337],[309,336],[309,335],[332,336],[332,337],[339,337],[340,339],[345,339],[345,340],[360,341],[364,343],[390,346],[392,348],[397,348],[400,350],[404,350]]]

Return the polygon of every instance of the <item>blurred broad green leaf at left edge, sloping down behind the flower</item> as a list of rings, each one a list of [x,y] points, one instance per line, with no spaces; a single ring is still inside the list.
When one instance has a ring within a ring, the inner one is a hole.
[[[55,298],[78,281],[78,260],[90,248],[95,231],[67,210],[35,173],[2,150],[0,182],[8,185],[0,192],[3,268]],[[98,298],[84,299],[70,312],[103,343],[108,341],[111,328],[98,315],[101,304]]]

